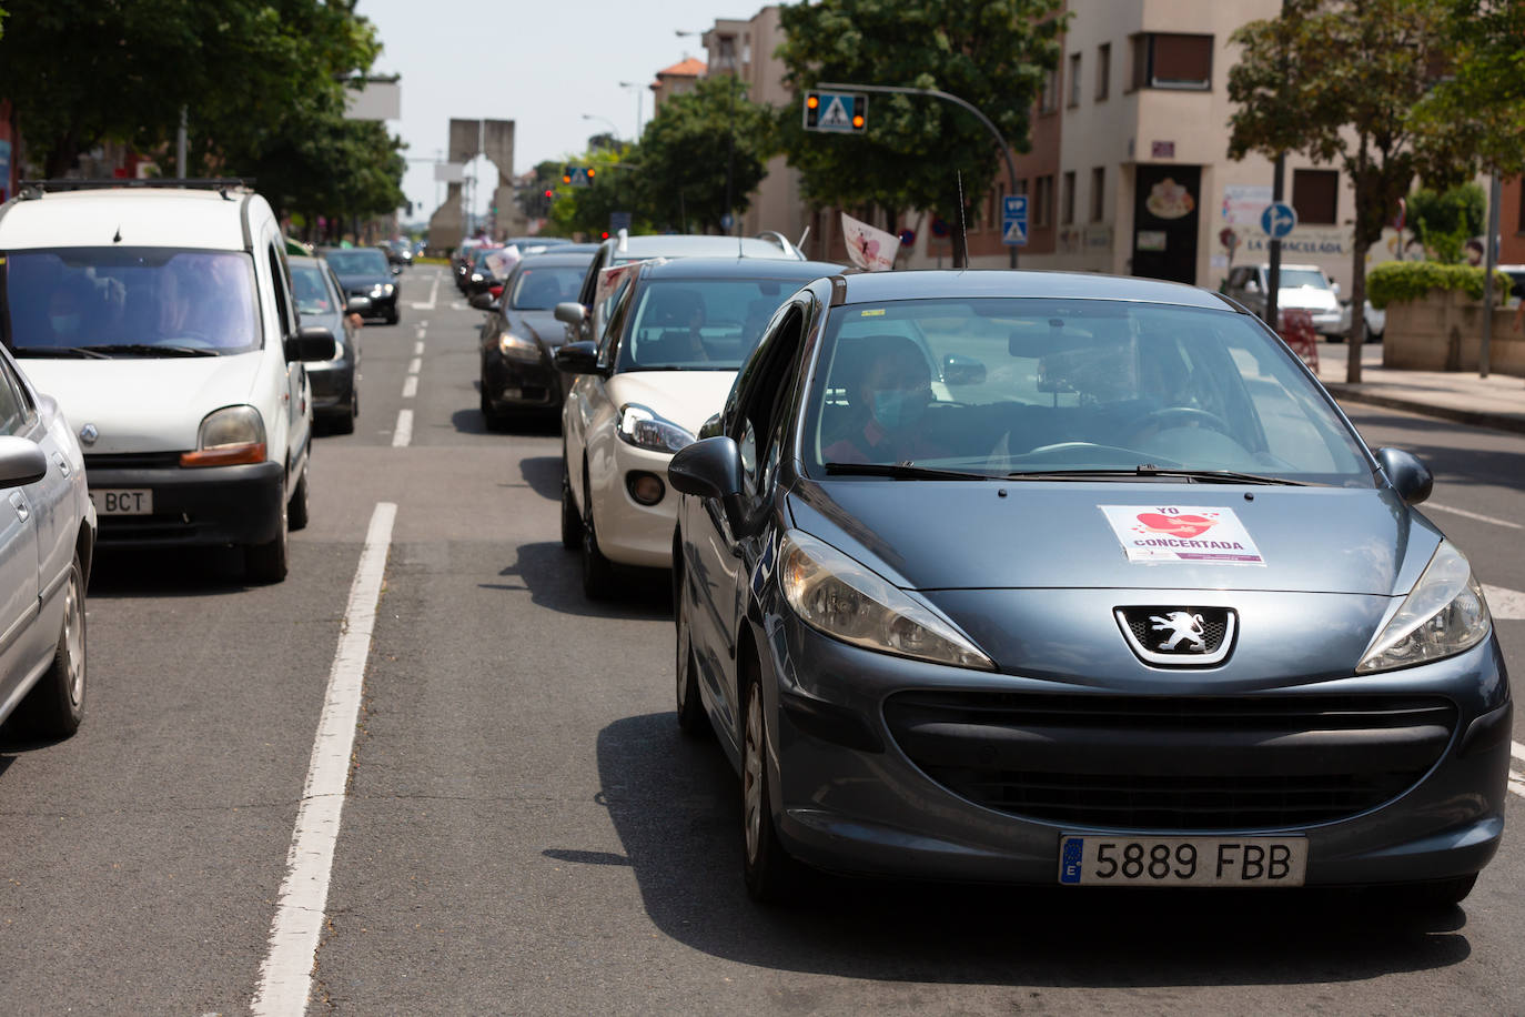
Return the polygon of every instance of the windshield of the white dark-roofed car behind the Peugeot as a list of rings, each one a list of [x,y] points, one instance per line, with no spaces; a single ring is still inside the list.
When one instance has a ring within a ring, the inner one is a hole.
[[[654,279],[634,296],[618,371],[737,371],[793,279]]]

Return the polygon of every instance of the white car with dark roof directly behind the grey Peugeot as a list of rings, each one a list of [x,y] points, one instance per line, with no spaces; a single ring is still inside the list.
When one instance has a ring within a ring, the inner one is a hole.
[[[631,265],[599,342],[557,351],[576,375],[561,407],[561,544],[581,549],[587,596],[618,590],[616,564],[671,567],[668,459],[720,410],[778,305],[840,270],[735,256]]]

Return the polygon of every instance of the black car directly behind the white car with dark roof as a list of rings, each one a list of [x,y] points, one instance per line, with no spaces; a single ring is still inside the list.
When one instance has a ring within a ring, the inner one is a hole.
[[[471,297],[471,306],[486,311],[479,389],[488,428],[528,415],[560,415],[566,375],[554,358],[566,329],[555,306],[576,296],[592,258],[592,244],[551,247],[514,265],[496,299],[485,293]]]

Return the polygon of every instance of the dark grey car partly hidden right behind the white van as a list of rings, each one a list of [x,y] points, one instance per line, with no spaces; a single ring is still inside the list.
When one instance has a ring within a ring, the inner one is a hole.
[[[369,297],[346,297],[334,270],[322,258],[288,258],[291,296],[303,325],[328,329],[334,355],[307,364],[313,386],[313,419],[337,435],[352,435],[360,416],[360,325]]]

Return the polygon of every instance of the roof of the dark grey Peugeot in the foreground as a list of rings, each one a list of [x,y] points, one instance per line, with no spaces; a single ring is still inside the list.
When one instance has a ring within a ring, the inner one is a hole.
[[[840,297],[833,303],[930,300],[938,297],[1058,297],[1081,300],[1136,300],[1238,311],[1211,290],[1182,282],[1104,276],[1092,271],[866,271],[833,281]]]

